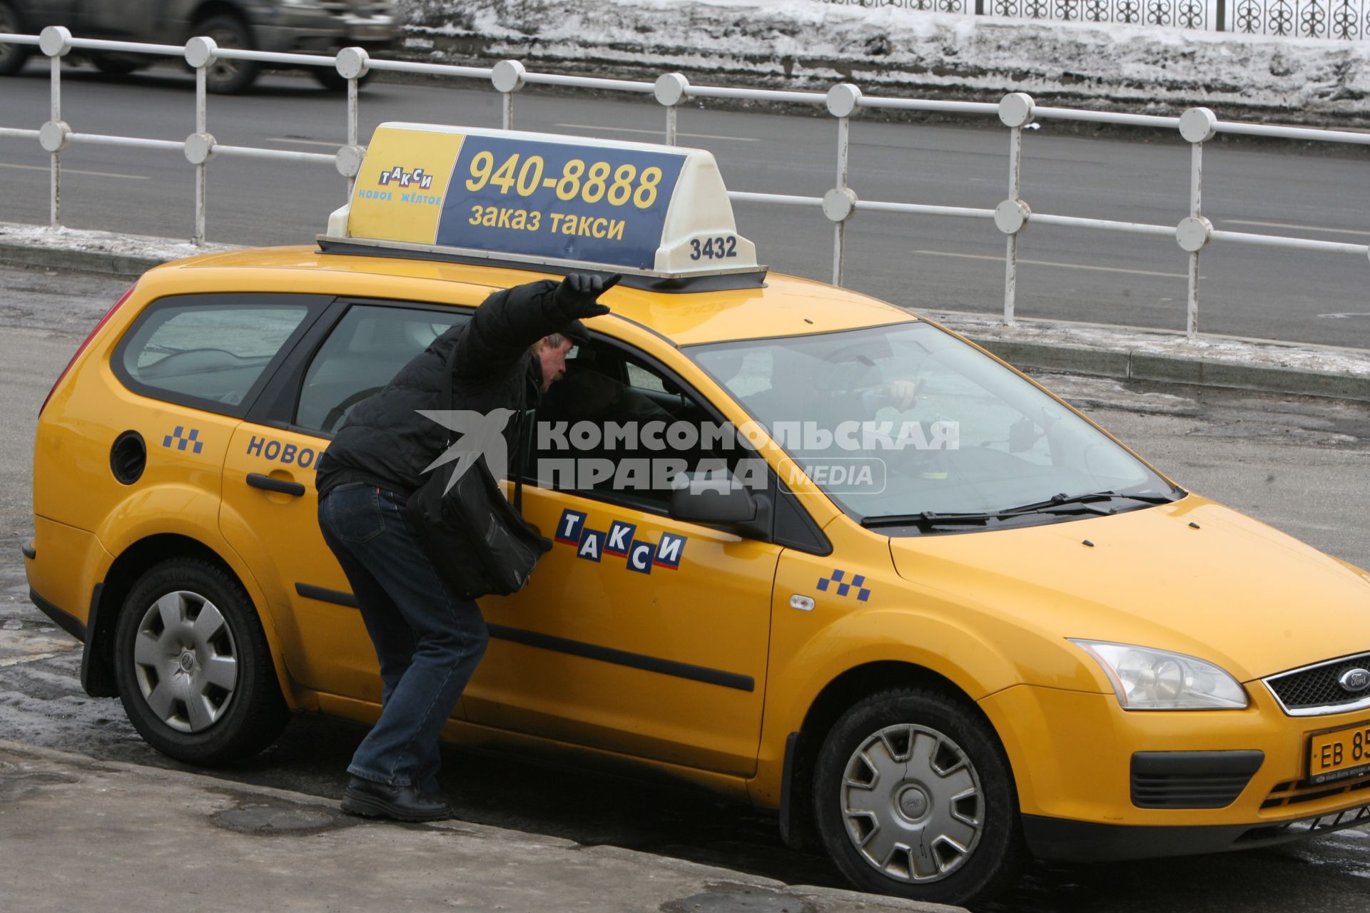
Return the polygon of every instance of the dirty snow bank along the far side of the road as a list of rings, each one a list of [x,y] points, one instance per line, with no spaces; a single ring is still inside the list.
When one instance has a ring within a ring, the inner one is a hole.
[[[708,85],[1370,120],[1370,42],[1044,23],[796,0],[400,0],[407,51],[444,63]]]

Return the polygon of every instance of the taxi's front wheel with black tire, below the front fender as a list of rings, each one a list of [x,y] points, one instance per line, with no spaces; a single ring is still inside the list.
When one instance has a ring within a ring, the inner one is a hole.
[[[967,905],[1012,884],[1026,858],[999,739],[974,705],[933,690],[880,691],[837,720],[814,813],[827,854],[863,891]]]

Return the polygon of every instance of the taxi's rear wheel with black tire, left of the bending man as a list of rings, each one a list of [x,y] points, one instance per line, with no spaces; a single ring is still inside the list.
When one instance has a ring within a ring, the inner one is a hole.
[[[164,561],[133,584],[115,624],[114,673],[138,734],[188,764],[251,757],[289,717],[252,601],[204,560]]]

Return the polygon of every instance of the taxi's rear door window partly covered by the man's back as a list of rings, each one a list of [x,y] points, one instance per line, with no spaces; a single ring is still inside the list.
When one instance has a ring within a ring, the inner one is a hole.
[[[295,424],[333,434],[353,407],[469,315],[358,304],[333,327],[304,374]]]

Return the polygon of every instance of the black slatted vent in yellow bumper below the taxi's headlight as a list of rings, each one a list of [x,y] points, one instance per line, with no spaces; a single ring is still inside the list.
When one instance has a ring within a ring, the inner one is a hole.
[[[1260,769],[1260,751],[1137,751],[1132,803],[1138,809],[1222,809]]]

